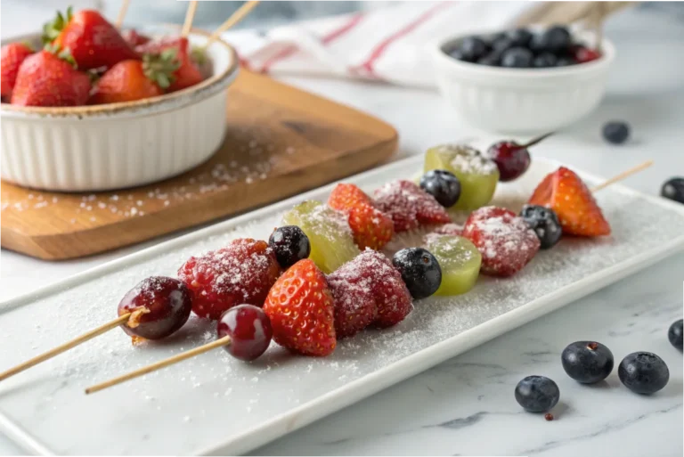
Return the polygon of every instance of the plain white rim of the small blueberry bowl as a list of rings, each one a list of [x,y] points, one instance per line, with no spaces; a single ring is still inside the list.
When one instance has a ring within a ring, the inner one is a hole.
[[[532,29],[534,29],[532,27]],[[443,61],[444,63],[452,65],[453,69],[458,69],[458,71],[463,73],[472,74],[473,76],[490,76],[490,77],[510,77],[510,78],[550,78],[550,77],[571,77],[579,76],[587,72],[593,72],[596,69],[601,69],[615,59],[615,46],[607,38],[603,38],[601,43],[601,56],[595,61],[589,61],[586,63],[580,63],[576,65],[568,65],[566,67],[552,67],[543,69],[509,69],[501,67],[490,67],[488,65],[481,65],[469,61],[458,61],[451,57],[446,49],[450,45],[455,44],[465,37],[471,36],[482,36],[482,35],[493,35],[495,33],[504,32],[505,29],[501,30],[485,30],[485,31],[471,31],[468,34],[459,35],[455,37],[450,37],[448,39],[443,39],[436,42],[432,46],[432,52],[436,54],[436,57]],[[574,31],[574,36],[579,37],[590,37],[589,31]]]

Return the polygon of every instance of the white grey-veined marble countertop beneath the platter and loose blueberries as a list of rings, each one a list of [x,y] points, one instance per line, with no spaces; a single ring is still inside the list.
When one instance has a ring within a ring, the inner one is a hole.
[[[654,167],[626,184],[656,194],[664,180],[684,175],[684,64],[679,59],[684,29],[680,21],[657,13],[625,12],[611,21],[607,34],[618,48],[607,99],[589,118],[551,137],[536,153],[599,175],[655,159]],[[460,138],[495,139],[452,118],[433,92],[338,80],[285,80],[395,125],[401,135],[397,158]],[[631,123],[629,144],[603,143],[600,126],[611,118]],[[56,264],[0,251],[0,300],[156,242]],[[249,457],[679,456],[684,355],[669,345],[666,331],[671,322],[684,317],[682,271],[680,253]],[[636,396],[621,386],[614,372],[605,383],[582,387],[567,378],[559,360],[563,347],[579,339],[605,343],[616,363],[633,351],[655,352],[670,366],[670,384],[655,396]],[[513,388],[530,374],[558,382],[557,420],[547,422],[516,404]],[[99,453],[106,454],[107,449]],[[0,437],[0,455],[21,453]]]

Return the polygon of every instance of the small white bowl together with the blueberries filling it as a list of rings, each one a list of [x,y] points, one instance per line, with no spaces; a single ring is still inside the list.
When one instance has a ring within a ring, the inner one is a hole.
[[[615,48],[565,26],[452,37],[433,46],[437,86],[456,114],[476,127],[533,134],[568,126],[606,92]]]

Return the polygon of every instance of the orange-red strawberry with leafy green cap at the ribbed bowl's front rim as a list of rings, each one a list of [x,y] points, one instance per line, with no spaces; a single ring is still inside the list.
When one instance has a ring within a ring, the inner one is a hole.
[[[175,50],[145,54],[142,61],[120,61],[95,86],[91,104],[133,102],[164,94],[178,68]]]

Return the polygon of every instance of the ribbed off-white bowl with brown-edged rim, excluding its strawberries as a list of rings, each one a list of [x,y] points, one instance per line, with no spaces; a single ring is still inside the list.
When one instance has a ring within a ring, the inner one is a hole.
[[[207,37],[193,32],[189,38],[200,45]],[[207,53],[211,76],[172,94],[73,108],[0,103],[0,179],[94,192],[151,184],[198,166],[224,141],[225,88],[239,68],[237,54],[221,40]]]

